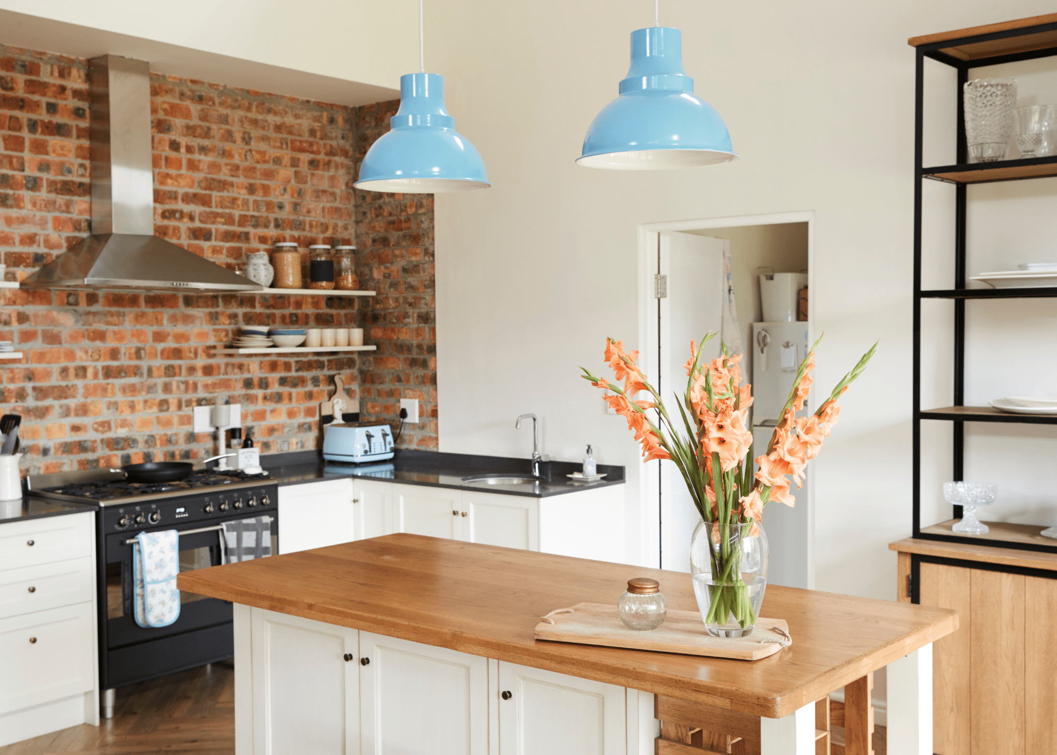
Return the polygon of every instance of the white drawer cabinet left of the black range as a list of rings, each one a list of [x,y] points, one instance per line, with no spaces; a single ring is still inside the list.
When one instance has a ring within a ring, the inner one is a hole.
[[[0,523],[0,747],[99,723],[95,512]]]

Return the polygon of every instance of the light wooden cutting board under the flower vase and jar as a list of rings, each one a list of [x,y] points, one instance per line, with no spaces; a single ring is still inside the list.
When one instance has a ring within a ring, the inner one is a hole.
[[[698,611],[668,611],[664,624],[656,629],[638,631],[624,626],[615,604],[578,603],[572,608],[575,613],[552,615],[554,624],[537,624],[536,639],[680,652],[686,656],[733,658],[739,661],[757,661],[775,655],[783,647],[777,642],[765,643],[762,640],[780,640],[792,644],[780,632],[771,628],[777,626],[787,632],[789,624],[782,619],[761,618],[752,634],[729,640],[709,634]]]

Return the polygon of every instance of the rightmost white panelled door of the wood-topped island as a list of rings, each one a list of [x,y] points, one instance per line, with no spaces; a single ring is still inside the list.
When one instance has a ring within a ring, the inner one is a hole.
[[[499,662],[500,755],[626,755],[624,687]]]

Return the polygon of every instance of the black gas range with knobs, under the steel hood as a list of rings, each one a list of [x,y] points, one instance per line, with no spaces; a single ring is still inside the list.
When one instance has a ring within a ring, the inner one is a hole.
[[[132,538],[141,532],[180,533],[180,571],[219,566],[221,524],[246,517],[272,519],[278,553],[278,486],[266,475],[204,469],[185,480],[127,482],[110,472],[37,475],[33,495],[94,502],[99,634],[99,687],[104,716],[112,715],[116,687],[194,668],[234,653],[231,604],[180,593],[180,618],[144,628],[132,618]]]

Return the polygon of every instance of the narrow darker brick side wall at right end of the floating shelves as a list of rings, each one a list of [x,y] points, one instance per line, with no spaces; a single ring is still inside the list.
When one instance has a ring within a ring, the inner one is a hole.
[[[394,100],[357,108],[357,173],[398,107]],[[419,424],[405,426],[398,445],[437,450],[433,196],[355,194],[357,275],[378,292],[365,307],[365,339],[378,350],[360,358],[361,409],[365,418],[391,418],[402,398],[418,399]]]

